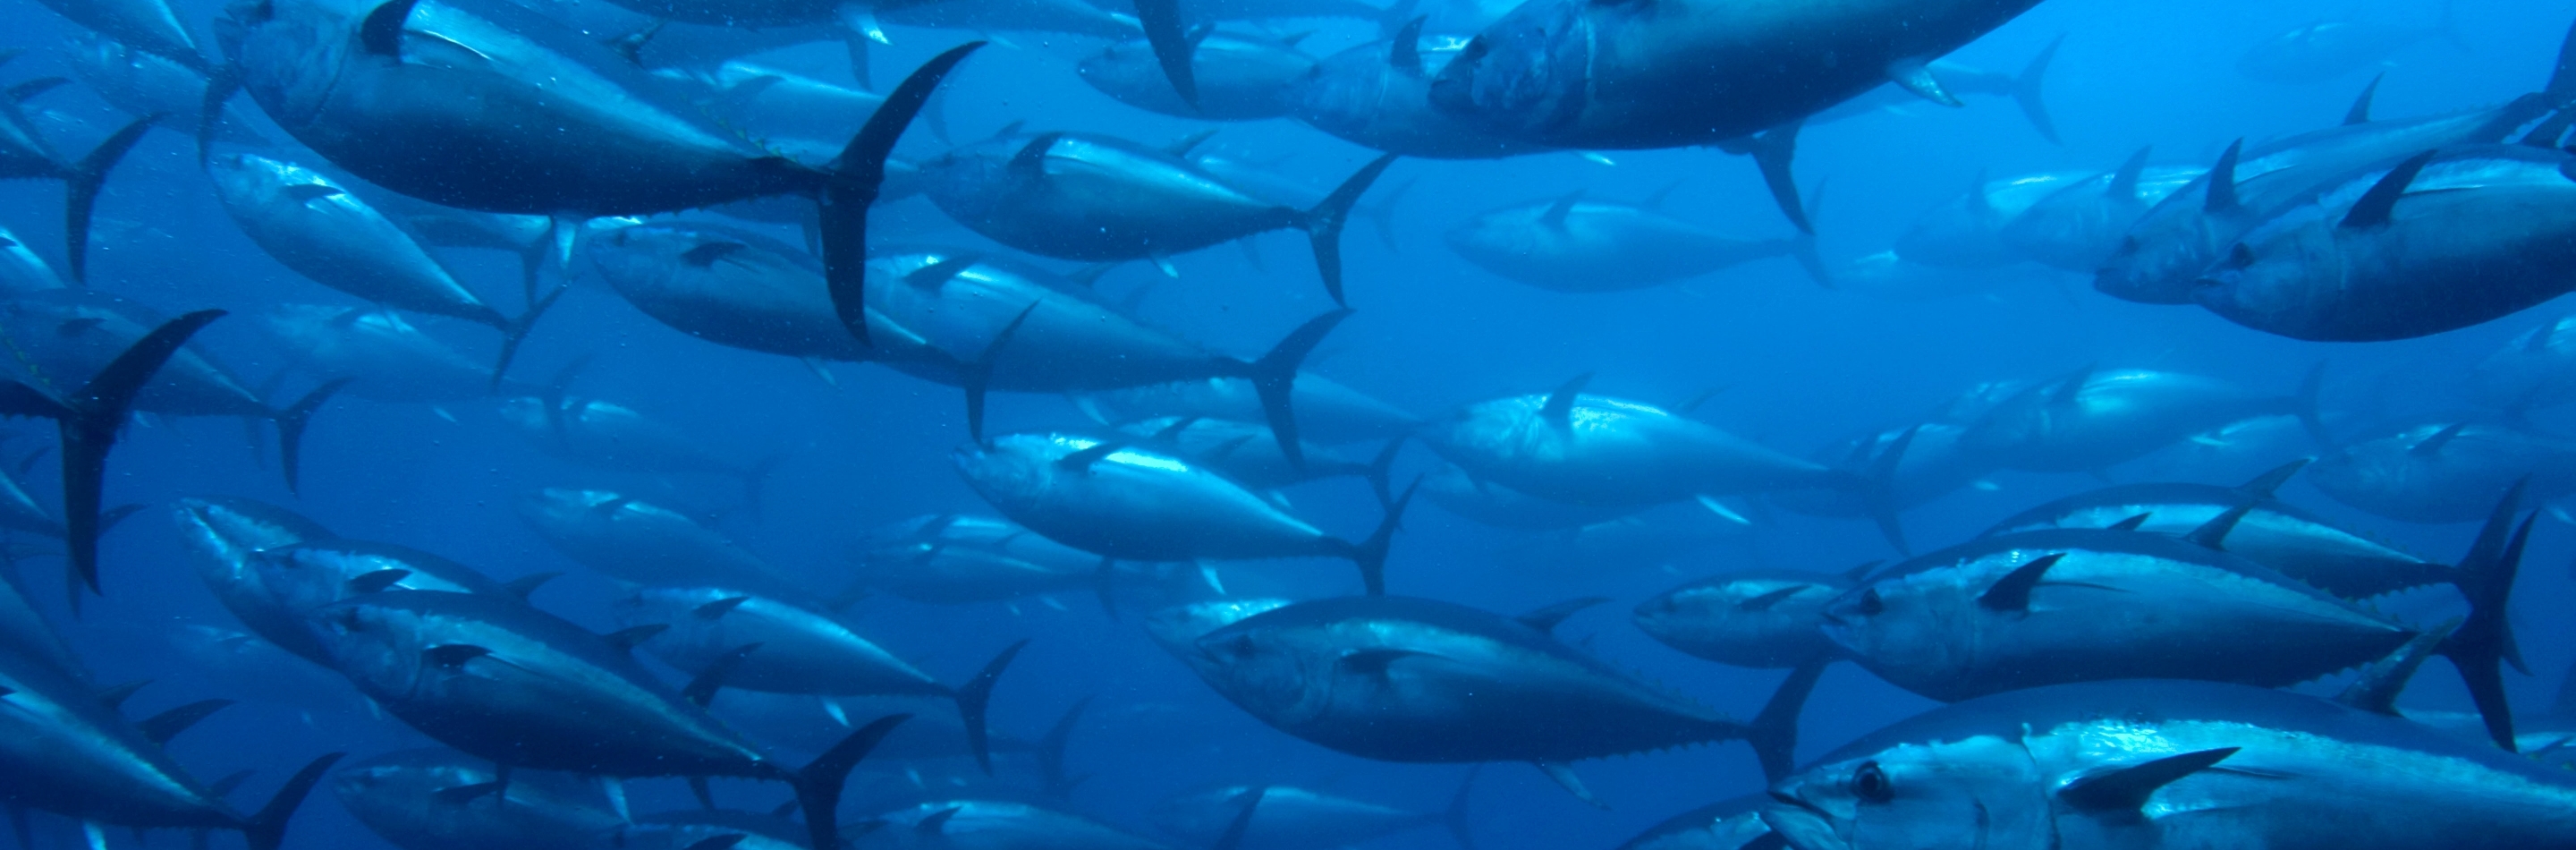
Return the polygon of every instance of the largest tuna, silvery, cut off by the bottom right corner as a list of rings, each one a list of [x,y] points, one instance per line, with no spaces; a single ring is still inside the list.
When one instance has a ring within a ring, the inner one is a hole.
[[[2439,775],[2439,780],[2427,780]],[[1935,708],[1770,788],[1795,850],[2553,847],[2566,770],[2396,716],[2125,680]]]

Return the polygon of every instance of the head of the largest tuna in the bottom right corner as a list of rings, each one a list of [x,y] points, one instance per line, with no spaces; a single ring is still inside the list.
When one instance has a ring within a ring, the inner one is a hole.
[[[2043,788],[2017,739],[1901,742],[1775,783],[1762,822],[1798,850],[2050,847]]]

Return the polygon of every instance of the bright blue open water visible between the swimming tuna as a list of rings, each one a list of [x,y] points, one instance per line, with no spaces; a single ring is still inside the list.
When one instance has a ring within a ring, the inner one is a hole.
[[[214,3],[180,3],[180,18],[204,28]],[[1922,209],[1955,198],[1976,175],[2007,178],[2043,170],[2099,173],[2143,144],[2156,162],[2205,165],[2236,139],[2269,139],[2344,116],[2370,70],[2316,85],[2251,82],[2236,57],[2251,44],[2326,15],[2380,15],[2419,21],[2432,3],[2107,3],[2048,0],[2038,10],[1958,52],[1955,62],[2014,70],[2056,36],[2066,36],[2048,100],[2066,144],[2043,142],[2022,116],[1996,98],[1973,98],[1950,111],[1909,103],[1899,111],[1816,126],[1803,134],[1798,173],[1806,185],[1826,185],[1819,232],[1826,258],[1847,260],[1883,250]],[[2463,3],[2460,39],[2414,44],[2385,64],[2380,116],[2414,116],[2499,103],[2537,88],[2576,3]],[[28,54],[5,67],[15,82],[64,75],[57,49],[75,33],[70,23],[28,0],[0,3],[0,46]],[[1296,26],[1291,26],[1296,28]],[[1311,52],[1358,44],[1368,31],[1321,23]],[[878,52],[878,77],[909,67],[961,33],[894,31]],[[1149,116],[1072,77],[1072,62],[1097,44],[1069,36],[1012,36],[1018,49],[987,49],[953,77],[948,121],[958,139],[974,139],[1005,121],[1033,129],[1084,129],[1131,139],[1172,139],[1203,124]],[[814,75],[837,75],[837,46],[781,54]],[[62,149],[88,149],[98,129],[124,116],[77,85],[28,103],[75,124],[52,124]],[[1231,124],[1211,142],[1247,160],[1280,160],[1278,170],[1329,185],[1373,152],[1329,139],[1293,121]],[[935,152],[914,131],[907,152]],[[281,147],[273,155],[294,155]],[[1680,180],[1667,211],[1741,237],[1785,237],[1752,165],[1713,149],[1610,152],[1613,162],[1574,155],[1538,155],[1499,162],[1404,160],[1381,183],[1414,183],[1399,206],[1399,250],[1378,245],[1365,224],[1345,240],[1352,317],[1311,363],[1360,392],[1396,407],[1437,415],[1466,402],[1546,392],[1592,371],[1592,392],[1649,402],[1677,402],[1708,386],[1723,392],[1698,417],[1788,453],[1811,453],[1855,433],[1904,425],[1976,381],[2048,379],[2087,363],[2105,368],[2164,368],[2208,373],[2249,389],[2290,392],[2316,361],[2331,363],[2329,407],[2349,422],[2424,422],[2468,410],[2458,392],[2470,363],[2506,337],[2555,319],[2540,307],[2509,319],[2406,343],[2329,345],[2295,343],[2228,325],[2192,307],[2143,307],[2094,294],[2079,276],[2027,281],[2007,273],[1984,294],[1883,301],[1826,291],[1780,260],[1752,263],[1664,288],[1628,294],[1551,294],[1481,273],[1445,250],[1440,234],[1471,214],[1582,188],[1592,198],[1633,201]],[[317,157],[304,157],[314,162]],[[59,245],[59,188],[54,183],[0,185],[0,224],[33,245]],[[265,258],[224,216],[193,167],[180,134],[147,137],[116,173],[98,206],[93,286],[137,301],[183,312],[224,307],[240,317],[214,325],[201,343],[240,373],[263,381],[283,366],[250,312],[278,301],[353,304],[348,296],[301,281]],[[925,201],[899,201],[876,211],[886,240],[969,240]],[[781,232],[793,237],[793,232]],[[1301,234],[1252,240],[1255,268],[1234,247],[1211,247],[1175,260],[1177,281],[1154,281],[1151,265],[1131,263],[1103,281],[1110,294],[1157,283],[1141,317],[1190,340],[1257,353],[1296,322],[1329,309],[1306,260]],[[471,286],[515,309],[515,260],[497,252],[443,255]],[[1056,268],[1072,268],[1056,263]],[[948,451],[966,440],[958,394],[873,366],[832,366],[837,386],[788,358],[716,348],[683,337],[629,304],[595,278],[546,319],[520,353],[518,373],[541,379],[574,358],[592,358],[580,394],[618,399],[688,433],[719,453],[757,458],[786,453],[768,482],[765,507],[752,515],[724,479],[675,479],[683,502],[721,513],[719,528],[742,546],[788,569],[845,569],[845,551],[860,531],[922,513],[987,513],[951,469]],[[422,319],[446,340],[479,358],[489,332]],[[167,636],[185,623],[232,628],[232,618],[193,577],[167,505],[178,495],[245,495],[289,505],[353,536],[430,549],[495,577],[567,572],[538,595],[546,610],[605,628],[600,603],[613,585],[587,574],[544,546],[515,515],[513,500],[536,487],[649,484],[639,477],[567,466],[507,433],[487,404],[379,404],[343,399],[327,407],[309,435],[301,500],[283,492],[273,448],[245,448],[232,420],[149,420],[129,430],[111,466],[108,502],[147,502],[106,538],[106,598],[93,598],[80,618],[62,610],[57,559],[31,559],[31,595],[98,670],[100,683],[155,680],[134,711],[157,711],[206,695],[242,701],[173,742],[173,755],[204,778],[258,770],[240,793],[255,806],[276,780],[327,750],[376,755],[425,744],[392,719],[366,711],[314,708],[309,698],[255,688],[185,662]],[[2540,428],[2576,425],[2540,415]],[[1056,397],[1002,394],[989,428],[1043,430],[1079,425]],[[2362,428],[2362,425],[2347,425]],[[23,456],[52,446],[41,422],[13,425],[0,453]],[[1412,453],[1401,477],[1427,469]],[[2115,479],[2138,479],[2112,469]],[[2099,487],[2092,477],[1999,471],[1989,487],[1971,487],[1911,510],[1917,543],[1965,538],[1991,520],[2050,497]],[[52,500],[52,461],[36,464],[28,487]],[[2409,525],[2336,505],[2293,482],[2282,497],[2300,507],[2349,520],[2429,556],[2465,549],[2468,525]],[[1319,525],[1360,536],[1378,510],[1355,479],[1293,487],[1288,500]],[[1481,528],[1437,507],[1417,505],[1396,538],[1388,585],[1399,595],[1425,595],[1489,610],[1525,610],[1546,603],[1602,595],[1613,605],[1569,621],[1558,634],[1605,659],[1633,667],[1710,706],[1739,716],[1759,708],[1780,672],[1728,670],[1654,644],[1625,621],[1625,608],[1685,580],[1741,567],[1839,572],[1868,559],[1888,559],[1888,546],[1860,520],[1816,520],[1785,510],[1754,515],[1757,528],[1736,541],[1669,562],[1558,562],[1512,559],[1520,536]],[[2571,533],[2545,520],[2522,585],[2517,587],[2522,647],[2537,677],[2509,677],[2522,706],[2545,706],[2558,670],[2571,662],[2566,605],[2576,600],[2568,572]],[[46,543],[49,546],[49,543]],[[1347,567],[1337,562],[1229,569],[1239,592],[1329,595],[1347,592]],[[2427,608],[2432,610],[2432,608]],[[871,598],[853,608],[863,634],[920,662],[940,680],[961,680],[1012,639],[1033,639],[1028,654],[994,698],[994,726],[1036,737],[1072,701],[1097,695],[1092,721],[1072,744],[1077,773],[1095,773],[1074,806],[1113,824],[1146,832],[1144,811],[1170,793],[1213,780],[1275,780],[1316,786],[1342,796],[1437,811],[1463,765],[1386,765],[1327,752],[1273,732],[1229,706],[1182,665],[1149,644],[1133,616],[1108,621],[1084,592],[1015,605],[935,608]],[[2434,665],[2442,667],[2442,665]],[[2321,688],[2324,690],[2324,688]],[[345,706],[345,703],[343,703]],[[1803,721],[1801,752],[1816,755],[1862,732],[1904,719],[1932,703],[1888,688],[1842,665]],[[2409,706],[2465,708],[2447,675],[2427,675]],[[1759,791],[1762,778],[1741,744],[1613,757],[1577,765],[1589,788],[1610,804],[1589,809],[1525,765],[1489,765],[1476,791],[1476,835],[1486,847],[1607,847],[1669,814],[1723,796]],[[868,768],[863,768],[868,770]],[[938,765],[935,770],[958,770]],[[775,786],[724,783],[726,798],[768,809]],[[634,780],[636,809],[688,806],[677,780]],[[39,817],[39,845],[70,845],[75,829]],[[152,845],[175,845],[155,835]],[[116,845],[129,837],[113,835]],[[234,842],[234,837],[219,837]],[[325,791],[304,806],[291,847],[379,845]],[[1437,829],[1386,837],[1370,847],[1448,847]]]

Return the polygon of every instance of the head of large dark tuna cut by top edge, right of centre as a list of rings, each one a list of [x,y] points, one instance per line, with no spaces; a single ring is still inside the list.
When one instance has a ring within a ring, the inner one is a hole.
[[[1592,0],[1530,0],[1432,77],[1443,113],[1504,137],[1533,137],[1582,118],[1592,90]]]

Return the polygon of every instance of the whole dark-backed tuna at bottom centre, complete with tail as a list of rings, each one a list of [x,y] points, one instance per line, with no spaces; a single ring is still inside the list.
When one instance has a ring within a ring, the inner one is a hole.
[[[1200,636],[1198,667],[1306,742],[1386,762],[1533,762],[1584,798],[1566,762],[1587,757],[1749,739],[1767,770],[1785,770],[1821,667],[1795,672],[1752,724],[1734,721],[1551,636],[1595,603],[1522,618],[1419,598],[1296,603]]]

